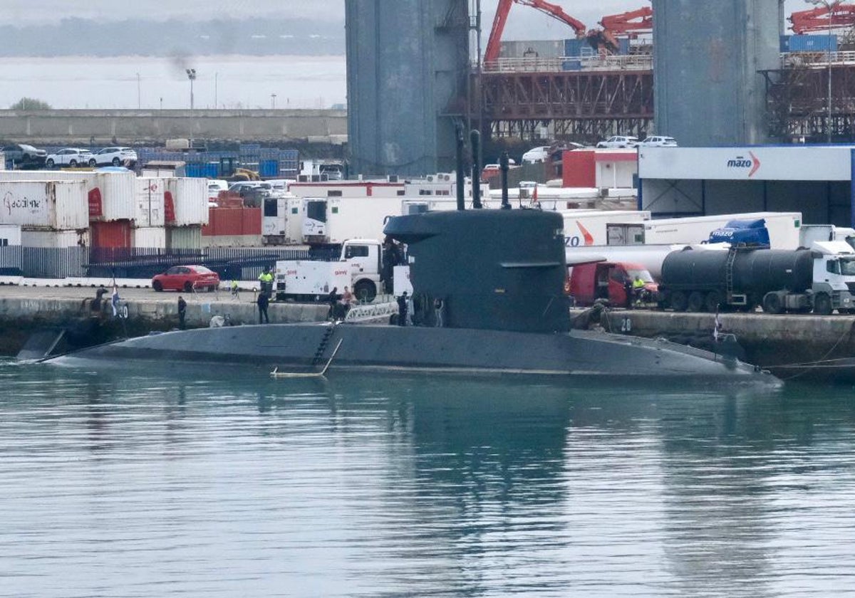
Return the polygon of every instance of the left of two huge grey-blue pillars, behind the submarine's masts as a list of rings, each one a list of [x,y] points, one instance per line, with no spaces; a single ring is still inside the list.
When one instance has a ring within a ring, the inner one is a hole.
[[[351,173],[453,170],[467,0],[346,0],[345,27]]]

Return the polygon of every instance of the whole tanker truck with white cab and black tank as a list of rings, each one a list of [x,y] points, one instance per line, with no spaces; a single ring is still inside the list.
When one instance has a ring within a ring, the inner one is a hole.
[[[853,291],[855,250],[840,241],[817,241],[811,249],[674,251],[659,283],[660,307],[680,312],[759,305],[769,314],[850,314]]]

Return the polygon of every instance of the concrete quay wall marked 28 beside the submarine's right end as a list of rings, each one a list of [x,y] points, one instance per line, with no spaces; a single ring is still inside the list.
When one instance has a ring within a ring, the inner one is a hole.
[[[740,359],[781,378],[855,379],[855,317],[852,315],[720,314],[721,335],[733,335]],[[716,347],[715,314],[614,310],[605,330],[667,338],[700,349]],[[728,338],[731,340],[731,338]],[[719,345],[720,346],[720,345]],[[852,363],[850,363],[850,361]]]

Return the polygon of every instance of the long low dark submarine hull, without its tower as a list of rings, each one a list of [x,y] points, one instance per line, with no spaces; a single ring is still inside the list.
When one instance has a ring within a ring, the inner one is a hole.
[[[339,344],[340,341],[340,344]],[[338,349],[336,350],[336,347]],[[333,357],[333,352],[335,353]],[[173,331],[81,349],[50,361],[210,363],[280,372],[391,370],[776,381],[740,361],[663,340],[589,331],[553,334],[392,325],[280,324]]]

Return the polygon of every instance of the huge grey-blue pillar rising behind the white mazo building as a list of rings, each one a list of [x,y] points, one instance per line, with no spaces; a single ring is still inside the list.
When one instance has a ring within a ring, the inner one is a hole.
[[[779,66],[778,0],[652,0],[656,132],[681,145],[767,142],[764,78]]]

